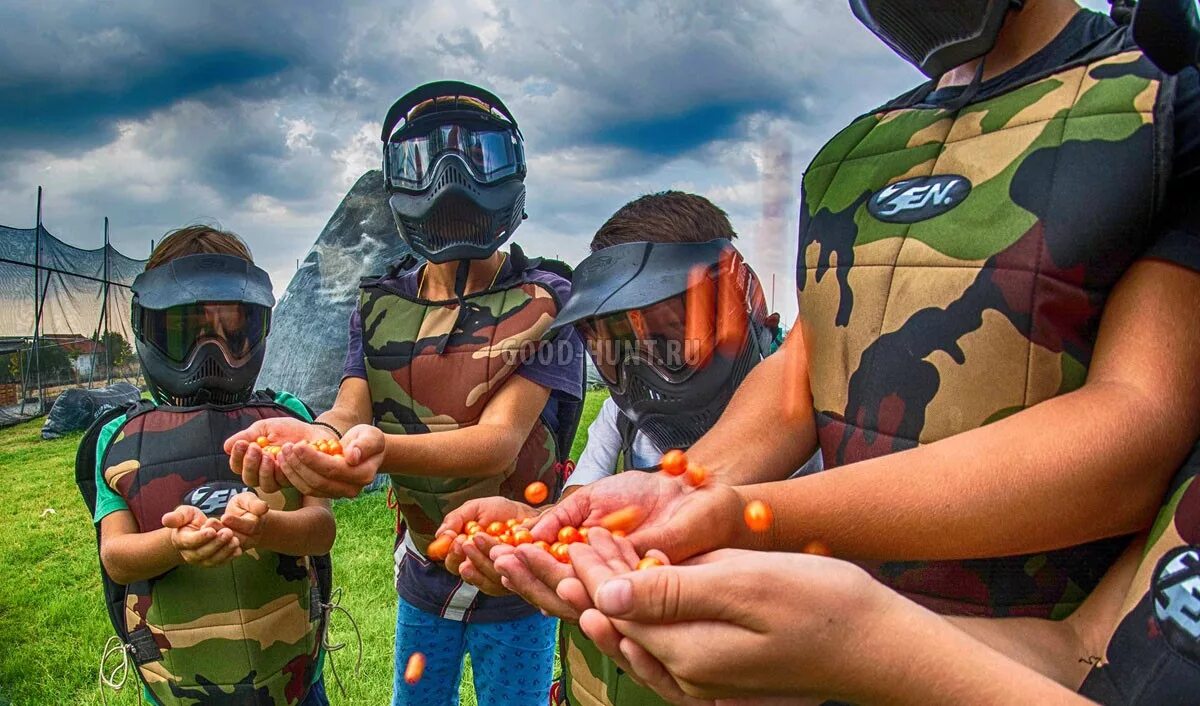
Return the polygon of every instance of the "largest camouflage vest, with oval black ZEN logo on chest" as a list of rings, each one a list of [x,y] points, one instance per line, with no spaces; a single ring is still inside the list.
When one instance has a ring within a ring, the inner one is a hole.
[[[954,112],[884,107],[812,161],[797,283],[826,468],[1084,384],[1170,174],[1174,84],[1130,47],[1115,31]],[[943,612],[1064,615],[1126,543],[872,569]]]

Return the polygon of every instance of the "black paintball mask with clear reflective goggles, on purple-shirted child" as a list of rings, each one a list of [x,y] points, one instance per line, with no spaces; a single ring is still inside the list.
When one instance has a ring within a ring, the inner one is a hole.
[[[524,217],[524,143],[491,92],[416,88],[388,110],[383,170],[401,238],[433,263],[484,259]]]

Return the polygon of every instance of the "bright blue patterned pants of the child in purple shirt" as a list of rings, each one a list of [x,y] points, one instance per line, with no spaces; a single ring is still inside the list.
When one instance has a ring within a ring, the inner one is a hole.
[[[400,599],[392,706],[458,706],[462,658],[470,654],[479,706],[546,706],[554,669],[557,621],[541,614],[499,623],[451,621]],[[425,674],[404,682],[413,652]]]

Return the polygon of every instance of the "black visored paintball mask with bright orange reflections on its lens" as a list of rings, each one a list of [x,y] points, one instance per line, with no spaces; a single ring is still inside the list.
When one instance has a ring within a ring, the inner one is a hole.
[[[612,399],[660,449],[686,449],[767,351],[766,300],[728,240],[626,243],[575,269],[554,328],[583,336]]]

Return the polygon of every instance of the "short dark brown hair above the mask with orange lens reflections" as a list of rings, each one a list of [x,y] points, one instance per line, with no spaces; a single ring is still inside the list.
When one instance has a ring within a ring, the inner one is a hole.
[[[623,243],[708,243],[737,237],[725,211],[703,196],[660,191],[620,207],[592,238],[592,251]]]

